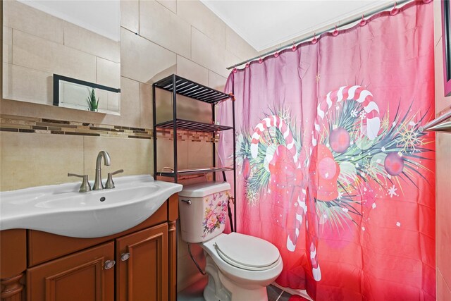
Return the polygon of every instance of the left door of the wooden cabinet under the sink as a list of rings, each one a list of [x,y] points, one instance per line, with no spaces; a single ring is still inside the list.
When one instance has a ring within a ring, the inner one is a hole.
[[[114,260],[114,242],[28,269],[27,300],[113,301],[114,267],[106,269],[107,260]]]

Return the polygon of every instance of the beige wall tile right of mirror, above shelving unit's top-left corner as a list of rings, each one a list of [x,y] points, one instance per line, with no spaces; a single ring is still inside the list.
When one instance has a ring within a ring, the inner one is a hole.
[[[121,54],[121,75],[144,83],[167,69],[173,70],[176,63],[173,52],[123,28]]]

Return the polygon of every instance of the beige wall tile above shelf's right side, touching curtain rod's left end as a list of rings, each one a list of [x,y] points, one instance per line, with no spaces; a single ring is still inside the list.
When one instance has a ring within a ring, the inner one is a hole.
[[[223,47],[218,46],[214,40],[210,39],[196,28],[192,28],[192,61],[201,66],[222,75],[228,76],[229,71],[226,69],[228,64],[232,65],[240,61],[237,56],[229,53]]]

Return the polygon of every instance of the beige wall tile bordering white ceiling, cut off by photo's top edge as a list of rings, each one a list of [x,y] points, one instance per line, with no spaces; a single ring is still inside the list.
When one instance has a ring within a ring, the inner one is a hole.
[[[220,47],[226,47],[226,23],[201,1],[178,1],[177,15],[213,39]]]

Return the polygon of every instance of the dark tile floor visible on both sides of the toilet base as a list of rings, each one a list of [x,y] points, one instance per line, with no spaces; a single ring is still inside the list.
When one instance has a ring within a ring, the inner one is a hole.
[[[204,287],[206,285],[206,277],[202,278],[197,283],[194,283],[185,290],[182,290],[177,295],[177,301],[205,301],[202,296]],[[276,286],[269,285],[268,288],[268,301],[288,301],[291,295]]]

